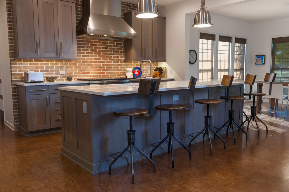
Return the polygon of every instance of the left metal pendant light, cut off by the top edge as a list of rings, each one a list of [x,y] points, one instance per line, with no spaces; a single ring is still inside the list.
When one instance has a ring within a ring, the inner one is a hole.
[[[138,0],[137,3],[137,18],[154,18],[159,16],[156,9],[156,1],[154,0]]]

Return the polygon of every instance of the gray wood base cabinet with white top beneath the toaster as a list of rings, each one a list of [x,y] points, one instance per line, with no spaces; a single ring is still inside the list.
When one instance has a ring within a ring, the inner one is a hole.
[[[17,87],[18,131],[25,137],[61,131],[60,93],[58,87],[81,84],[33,85]]]

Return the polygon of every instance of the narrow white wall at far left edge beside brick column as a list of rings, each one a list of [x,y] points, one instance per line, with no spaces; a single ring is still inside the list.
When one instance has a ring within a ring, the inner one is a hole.
[[[1,78],[4,101],[4,119],[5,125],[15,130],[13,104],[12,104],[12,87],[11,87],[11,70],[8,46],[8,27],[6,15],[6,1],[0,1],[0,60],[1,60]]]

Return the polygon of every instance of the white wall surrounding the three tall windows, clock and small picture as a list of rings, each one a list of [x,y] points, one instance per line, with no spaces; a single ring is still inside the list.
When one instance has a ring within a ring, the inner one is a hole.
[[[232,4],[238,0],[230,0]],[[222,6],[219,1],[206,1],[208,10]],[[198,61],[189,64],[189,50],[198,53],[199,32],[240,37],[247,39],[246,44],[246,74],[256,74],[257,80],[264,79],[265,73],[271,69],[271,38],[289,36],[288,19],[268,22],[251,23],[220,15],[211,14],[212,27],[192,28],[194,15],[199,9],[200,1],[187,0],[159,8],[159,13],[166,19],[166,62],[159,62],[160,67],[167,68],[167,77],[179,80],[189,80],[198,76]],[[265,65],[255,65],[255,55],[266,55]],[[169,74],[172,69],[172,74]]]

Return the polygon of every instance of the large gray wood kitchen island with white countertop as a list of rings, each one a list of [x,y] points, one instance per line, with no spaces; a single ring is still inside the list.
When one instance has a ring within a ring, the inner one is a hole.
[[[192,132],[204,128],[206,105],[196,104],[196,99],[219,99],[226,94],[226,87],[221,81],[205,81],[196,83],[193,93],[188,89],[189,81],[161,82],[159,92],[154,95],[154,107],[159,104],[184,104],[183,111],[173,111],[175,136],[185,145],[189,144]],[[243,95],[243,81],[236,80],[230,88],[230,94]],[[62,147],[61,155],[82,167],[90,174],[98,174],[108,170],[113,160],[110,155],[121,151],[127,145],[129,118],[114,116],[113,111],[124,108],[144,108],[149,110],[149,97],[138,95],[138,83],[114,85],[87,85],[60,87]],[[178,95],[177,101],[172,101]],[[220,126],[228,119],[228,104],[212,105],[211,127]],[[235,121],[243,119],[243,101],[234,102]],[[159,142],[167,135],[167,111],[154,109],[152,116],[133,117],[133,129],[136,130],[136,146],[149,155],[152,143]],[[226,128],[220,134],[226,132]],[[230,135],[229,135],[230,136]],[[195,142],[202,140],[202,135]],[[220,143],[221,144],[221,143]],[[174,149],[181,147],[175,141]],[[208,147],[208,155],[209,150]],[[160,146],[154,155],[168,150],[167,144]],[[194,147],[192,147],[194,150]],[[112,168],[127,165],[129,152],[119,158]],[[135,161],[143,159],[139,153],[134,154]],[[159,165],[156,165],[156,167]]]

